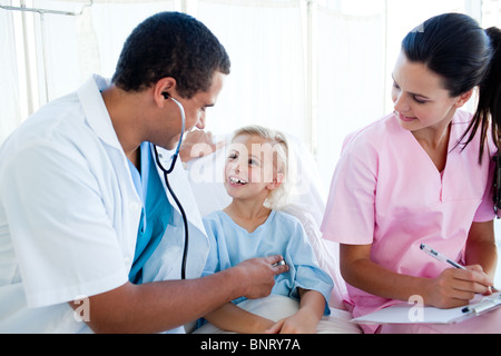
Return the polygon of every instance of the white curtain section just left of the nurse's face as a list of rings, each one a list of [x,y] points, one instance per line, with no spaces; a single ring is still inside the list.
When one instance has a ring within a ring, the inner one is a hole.
[[[346,135],[384,113],[384,8],[353,16],[320,7],[318,29],[315,154],[328,187]]]

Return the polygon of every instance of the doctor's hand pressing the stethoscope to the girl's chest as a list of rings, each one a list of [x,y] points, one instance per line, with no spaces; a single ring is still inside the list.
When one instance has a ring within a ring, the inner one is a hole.
[[[242,274],[243,297],[259,299],[267,297],[275,286],[275,276],[286,273],[288,266],[275,266],[283,260],[282,256],[247,259],[235,266]]]

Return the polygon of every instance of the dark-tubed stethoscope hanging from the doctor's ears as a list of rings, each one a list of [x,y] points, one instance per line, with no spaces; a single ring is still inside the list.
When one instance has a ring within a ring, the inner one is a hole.
[[[179,211],[180,211],[181,217],[183,217],[183,224],[184,224],[184,227],[185,227],[185,248],[184,248],[184,251],[183,251],[181,279],[186,279],[186,259],[187,259],[187,256],[188,256],[188,219],[186,217],[185,209],[183,208],[183,205],[180,204],[179,199],[174,194],[174,190],[170,187],[169,179],[167,177],[168,175],[170,175],[173,172],[174,167],[176,166],[177,157],[179,156],[179,149],[180,149],[180,146],[183,144],[183,136],[185,135],[186,116],[185,116],[185,108],[183,108],[183,105],[179,101],[177,101],[174,98],[169,98],[167,92],[164,92],[163,95],[164,95],[165,99],[170,99],[174,102],[176,102],[176,105],[179,107],[179,111],[180,111],[181,120],[183,120],[183,127],[181,127],[181,134],[180,134],[179,142],[177,144],[176,151],[175,151],[175,154],[174,154],[174,156],[171,158],[173,161],[170,164],[170,168],[169,169],[165,169],[164,166],[161,165],[160,158],[159,158],[159,155],[158,155],[158,150],[157,150],[157,146],[154,145],[154,148],[155,148],[155,159],[156,159],[157,166],[164,172],[165,185],[167,186],[167,189],[169,190],[170,195],[173,196],[174,201],[176,201],[176,205],[179,208]]]

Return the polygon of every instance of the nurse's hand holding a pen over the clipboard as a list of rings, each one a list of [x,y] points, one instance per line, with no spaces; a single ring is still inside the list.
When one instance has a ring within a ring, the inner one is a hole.
[[[438,308],[468,305],[475,294],[491,294],[492,280],[480,266],[466,269],[449,268],[432,279],[426,289],[425,303]]]

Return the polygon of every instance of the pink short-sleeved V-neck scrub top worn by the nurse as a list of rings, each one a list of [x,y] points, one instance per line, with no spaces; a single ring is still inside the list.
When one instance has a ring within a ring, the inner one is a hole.
[[[416,277],[435,278],[450,267],[424,254],[421,244],[461,263],[472,221],[494,218],[491,157],[497,149],[490,134],[482,165],[480,135],[464,150],[456,146],[471,118],[454,115],[442,172],[393,113],[348,137],[332,179],[324,238],[372,244],[373,261]],[[350,285],[347,290],[354,317],[400,303]]]

